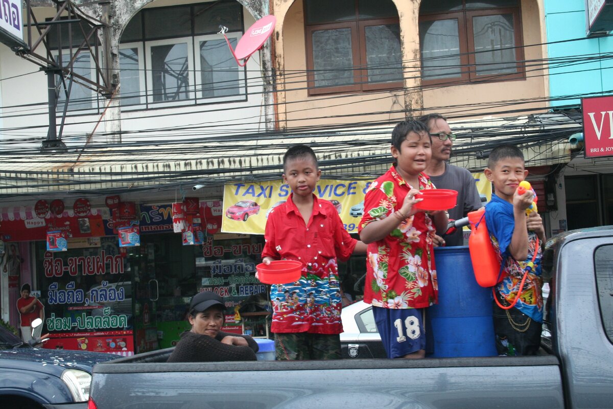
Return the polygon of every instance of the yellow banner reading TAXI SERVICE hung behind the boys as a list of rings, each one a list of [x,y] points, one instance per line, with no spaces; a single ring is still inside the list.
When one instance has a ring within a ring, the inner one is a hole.
[[[492,185],[484,174],[473,174],[479,193],[492,197]],[[349,233],[357,233],[364,213],[364,194],[369,180],[321,179],[315,194],[332,202]],[[226,233],[264,234],[270,210],[287,200],[291,189],[283,180],[230,183],[224,186],[223,221]]]

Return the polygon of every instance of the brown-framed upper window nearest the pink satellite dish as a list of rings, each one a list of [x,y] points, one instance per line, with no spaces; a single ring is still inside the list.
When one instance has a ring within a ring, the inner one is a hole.
[[[306,0],[305,36],[310,94],[402,87],[392,0]]]

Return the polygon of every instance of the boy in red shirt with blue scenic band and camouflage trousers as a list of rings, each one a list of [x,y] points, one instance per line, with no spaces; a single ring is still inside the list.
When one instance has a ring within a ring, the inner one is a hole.
[[[270,289],[276,359],[340,359],[337,258],[364,253],[366,246],[352,239],[332,203],[313,194],[321,170],[311,148],[289,148],[283,171],[292,193],[268,215],[262,261],[295,260],[303,267],[299,281]]]

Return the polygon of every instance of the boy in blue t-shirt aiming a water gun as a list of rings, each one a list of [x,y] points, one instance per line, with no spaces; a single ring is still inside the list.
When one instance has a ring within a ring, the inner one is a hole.
[[[500,355],[533,355],[541,345],[543,326],[543,220],[536,212],[526,215],[534,200],[532,191],[517,193],[528,175],[519,148],[501,145],[492,150],[484,172],[495,188],[485,207],[485,223],[501,260],[503,278],[494,287],[496,347]]]

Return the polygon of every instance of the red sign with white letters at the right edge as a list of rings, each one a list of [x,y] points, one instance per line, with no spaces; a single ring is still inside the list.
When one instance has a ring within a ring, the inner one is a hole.
[[[585,157],[613,156],[613,96],[581,100]]]

